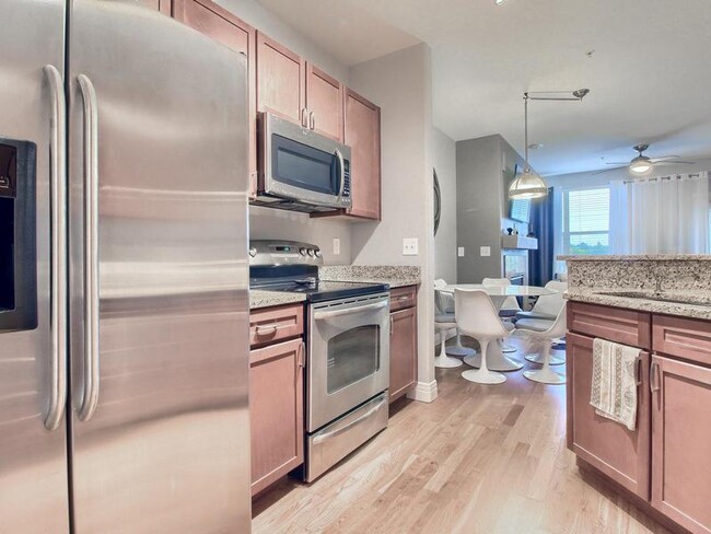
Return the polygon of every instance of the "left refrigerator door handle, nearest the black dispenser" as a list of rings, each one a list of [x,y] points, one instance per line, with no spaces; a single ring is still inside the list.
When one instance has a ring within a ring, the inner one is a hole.
[[[51,94],[51,135],[49,140],[51,173],[51,388],[45,428],[57,430],[67,404],[67,176],[65,154],[66,102],[61,74],[53,65],[44,68]]]

